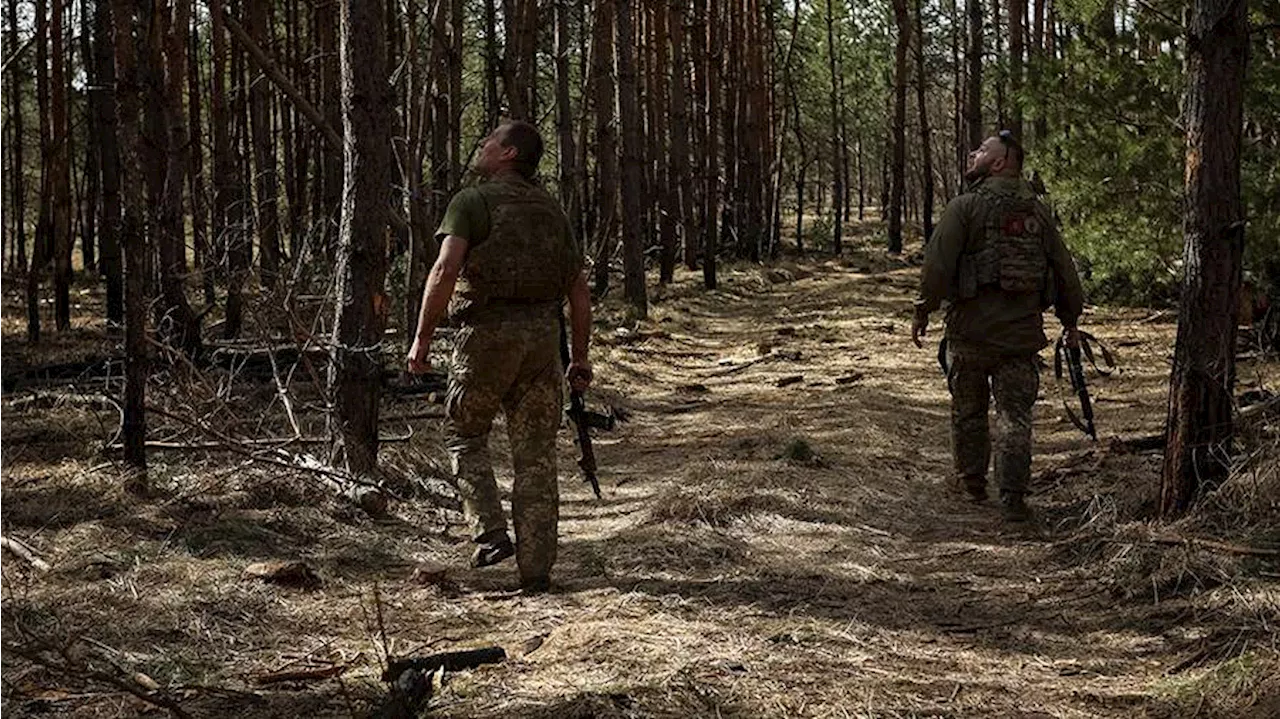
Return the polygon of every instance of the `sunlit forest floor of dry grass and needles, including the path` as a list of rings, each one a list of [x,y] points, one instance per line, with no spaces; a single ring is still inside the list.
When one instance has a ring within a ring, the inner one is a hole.
[[[1210,509],[1144,519],[1160,455],[1129,440],[1161,430],[1175,316],[1087,315],[1120,363],[1091,376],[1102,439],[1066,422],[1050,365],[1039,522],[1010,526],[946,489],[948,398],[910,340],[906,257],[728,266],[716,292],[681,273],[639,324],[603,303],[590,399],[628,417],[596,439],[603,500],[561,435],[559,560],[540,596],[513,591],[513,563],[467,568],[460,516],[430,500],[372,519],[314,475],[212,450],[154,452],[151,493],[131,494],[102,453],[114,408],[6,394],[0,533],[51,569],[0,551],[0,715],[165,714],[132,690],[191,716],[364,716],[385,654],[488,645],[508,659],[445,676],[430,715],[1280,714],[1280,567],[1245,551],[1280,544],[1275,494],[1258,504],[1270,454],[1242,461]],[[32,353],[15,298],[4,316],[6,372],[109,348],[95,324]],[[1242,390],[1276,375],[1248,360]],[[274,386],[228,391],[221,412],[279,411]],[[435,423],[388,445],[388,466],[429,473]],[[319,589],[246,574],[266,560],[306,562]]]

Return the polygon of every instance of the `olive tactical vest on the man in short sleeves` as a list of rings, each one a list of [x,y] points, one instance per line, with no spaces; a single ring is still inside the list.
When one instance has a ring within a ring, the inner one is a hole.
[[[454,313],[563,299],[581,258],[559,205],[541,187],[515,178],[477,191],[489,211],[489,235],[467,252]]]

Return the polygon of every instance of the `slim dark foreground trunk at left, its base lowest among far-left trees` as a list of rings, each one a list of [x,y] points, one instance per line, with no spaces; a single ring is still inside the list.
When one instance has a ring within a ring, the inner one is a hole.
[[[120,244],[124,249],[124,461],[146,470],[146,205],[142,182],[142,83],[134,47],[134,1],[113,0],[115,27],[115,100],[120,137],[120,169],[124,205],[120,214]],[[145,29],[142,32],[146,32]]]

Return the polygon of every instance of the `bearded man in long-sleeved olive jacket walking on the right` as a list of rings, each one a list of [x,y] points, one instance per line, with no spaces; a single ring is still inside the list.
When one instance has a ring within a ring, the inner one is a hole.
[[[924,249],[911,339],[943,301],[950,356],[955,487],[987,498],[992,441],[987,407],[996,399],[996,481],[1004,516],[1032,518],[1025,495],[1032,464],[1032,407],[1038,352],[1048,344],[1043,311],[1053,307],[1066,343],[1079,345],[1080,279],[1052,214],[1021,178],[1024,152],[1007,130],[969,154],[969,192],[947,205]]]

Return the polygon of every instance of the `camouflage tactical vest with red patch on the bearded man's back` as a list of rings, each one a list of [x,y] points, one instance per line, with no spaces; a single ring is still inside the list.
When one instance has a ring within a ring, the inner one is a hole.
[[[1052,302],[1048,216],[1030,197],[986,186],[974,192],[982,198],[982,228],[975,246],[960,256],[959,297],[972,299],[979,289],[1000,287],[1011,294],[1041,294],[1047,306]]]

